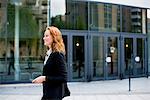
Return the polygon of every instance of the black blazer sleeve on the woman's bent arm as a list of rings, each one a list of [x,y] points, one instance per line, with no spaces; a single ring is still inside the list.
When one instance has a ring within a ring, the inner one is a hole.
[[[67,82],[67,70],[65,56],[62,53],[55,52],[53,54],[54,67],[56,68],[55,76],[46,76],[47,82]]]

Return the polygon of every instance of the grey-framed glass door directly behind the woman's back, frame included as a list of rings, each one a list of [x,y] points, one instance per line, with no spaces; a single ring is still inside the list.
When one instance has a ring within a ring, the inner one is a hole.
[[[62,31],[66,48],[68,81],[84,81],[86,79],[86,33]]]

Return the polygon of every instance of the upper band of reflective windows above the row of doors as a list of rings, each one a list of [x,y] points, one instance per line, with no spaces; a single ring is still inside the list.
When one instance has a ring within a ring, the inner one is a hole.
[[[146,33],[146,9],[100,2],[90,2],[89,6],[85,1],[61,2],[56,1],[51,8],[52,25],[61,29]]]

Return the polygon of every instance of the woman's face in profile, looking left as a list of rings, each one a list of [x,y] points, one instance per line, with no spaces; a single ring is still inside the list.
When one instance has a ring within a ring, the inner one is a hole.
[[[50,34],[49,30],[45,31],[43,40],[44,40],[44,45],[45,46],[48,46],[48,47],[51,46],[51,44],[53,42],[53,38],[52,38],[52,35]]]

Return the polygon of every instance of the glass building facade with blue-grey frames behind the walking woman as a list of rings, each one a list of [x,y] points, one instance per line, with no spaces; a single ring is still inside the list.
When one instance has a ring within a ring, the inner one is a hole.
[[[48,23],[62,31],[69,81],[148,77],[148,11],[92,1],[0,0],[0,83],[42,74]]]

